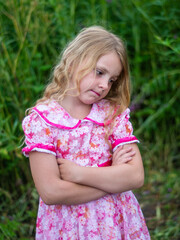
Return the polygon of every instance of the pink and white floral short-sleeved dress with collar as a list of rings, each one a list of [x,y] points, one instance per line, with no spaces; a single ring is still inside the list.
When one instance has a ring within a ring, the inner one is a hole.
[[[24,155],[53,154],[81,166],[104,167],[111,161],[104,120],[109,102],[93,104],[83,120],[72,118],[56,101],[40,104],[23,120]],[[129,109],[116,117],[109,136],[112,149],[138,142],[129,122]],[[140,206],[131,191],[109,194],[80,205],[46,205],[39,201],[37,240],[149,240]]]

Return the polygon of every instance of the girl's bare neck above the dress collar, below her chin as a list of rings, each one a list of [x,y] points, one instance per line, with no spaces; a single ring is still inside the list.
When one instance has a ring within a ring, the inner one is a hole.
[[[89,115],[92,105],[83,104],[76,101],[75,98],[71,96],[65,96],[60,102],[60,105],[75,119],[84,119]]]

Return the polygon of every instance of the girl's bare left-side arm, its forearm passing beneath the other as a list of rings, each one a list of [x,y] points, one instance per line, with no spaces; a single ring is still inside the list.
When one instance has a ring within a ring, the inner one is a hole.
[[[94,187],[64,181],[60,179],[55,156],[47,153],[29,154],[32,177],[43,202],[55,204],[82,204],[97,200],[107,193]]]

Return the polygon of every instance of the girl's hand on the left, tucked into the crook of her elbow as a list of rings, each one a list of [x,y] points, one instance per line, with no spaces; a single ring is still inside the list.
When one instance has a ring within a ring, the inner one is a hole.
[[[69,182],[78,182],[81,166],[64,158],[57,158],[61,179]]]

